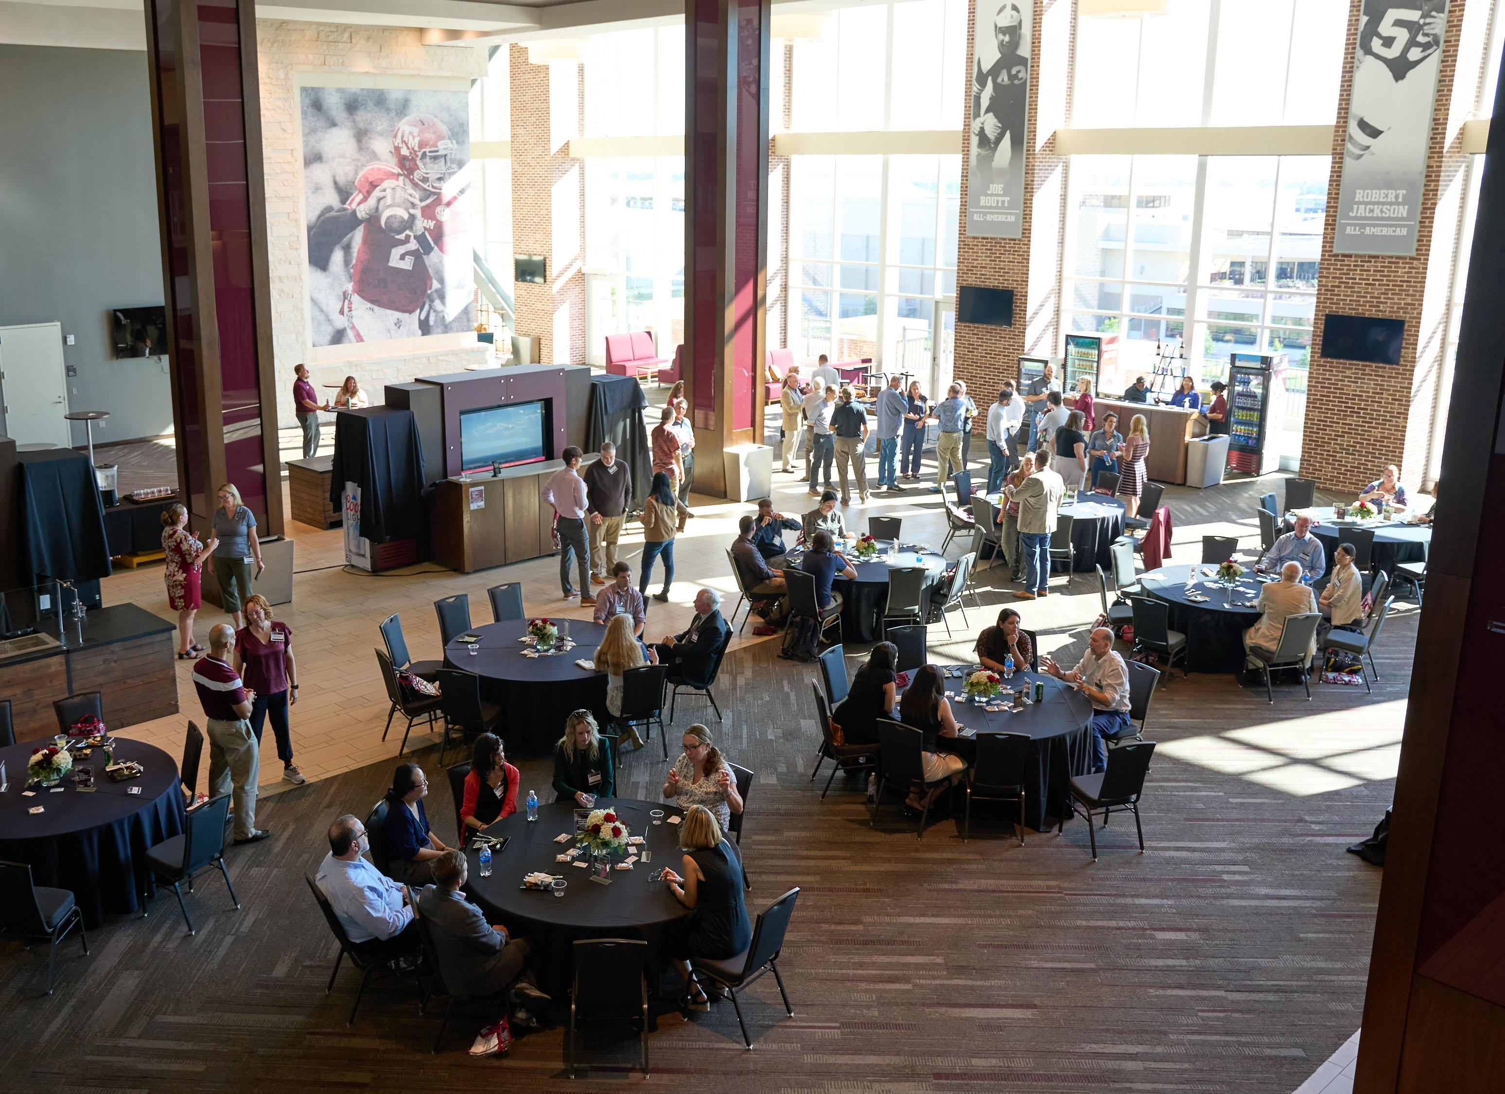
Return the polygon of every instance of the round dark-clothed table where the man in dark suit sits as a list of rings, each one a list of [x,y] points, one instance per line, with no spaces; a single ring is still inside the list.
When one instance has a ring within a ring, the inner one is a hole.
[[[528,634],[527,620],[486,623],[465,634],[480,635],[480,649],[471,655],[468,643],[451,641],[444,647],[444,664],[480,677],[482,698],[503,710],[507,748],[531,755],[549,752],[575,710],[590,710],[605,722],[607,674],[575,664],[596,656],[605,623],[569,620],[575,647],[542,658],[522,656],[530,649],[521,641]]]

